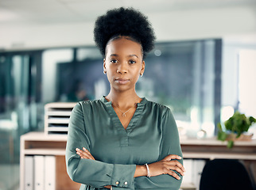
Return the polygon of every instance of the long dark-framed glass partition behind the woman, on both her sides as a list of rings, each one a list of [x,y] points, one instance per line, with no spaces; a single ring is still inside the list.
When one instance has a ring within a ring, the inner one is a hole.
[[[219,122],[221,40],[157,43],[138,79],[140,97],[169,106],[181,135],[215,133]],[[18,186],[19,140],[44,131],[44,106],[107,95],[96,47],[0,53],[0,189]],[[16,186],[15,186],[16,185]]]

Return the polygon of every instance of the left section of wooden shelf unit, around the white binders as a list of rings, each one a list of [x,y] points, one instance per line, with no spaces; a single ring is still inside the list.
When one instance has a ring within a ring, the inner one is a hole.
[[[25,156],[53,155],[56,158],[55,190],[77,190],[80,184],[72,181],[66,172],[65,148],[68,135],[47,135],[45,132],[29,132],[21,135],[20,190],[25,190]]]

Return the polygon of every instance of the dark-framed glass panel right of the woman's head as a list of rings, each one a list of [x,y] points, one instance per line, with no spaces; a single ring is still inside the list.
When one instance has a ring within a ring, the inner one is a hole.
[[[220,107],[220,40],[157,44],[146,59],[139,93],[169,106],[186,135],[215,134]],[[144,83],[143,83],[144,82]]]

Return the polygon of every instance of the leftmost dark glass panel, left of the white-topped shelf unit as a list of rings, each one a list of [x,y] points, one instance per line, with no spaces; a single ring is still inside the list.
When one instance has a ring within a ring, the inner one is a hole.
[[[20,136],[37,130],[43,116],[40,66],[41,52],[0,54],[0,189],[17,189]]]

